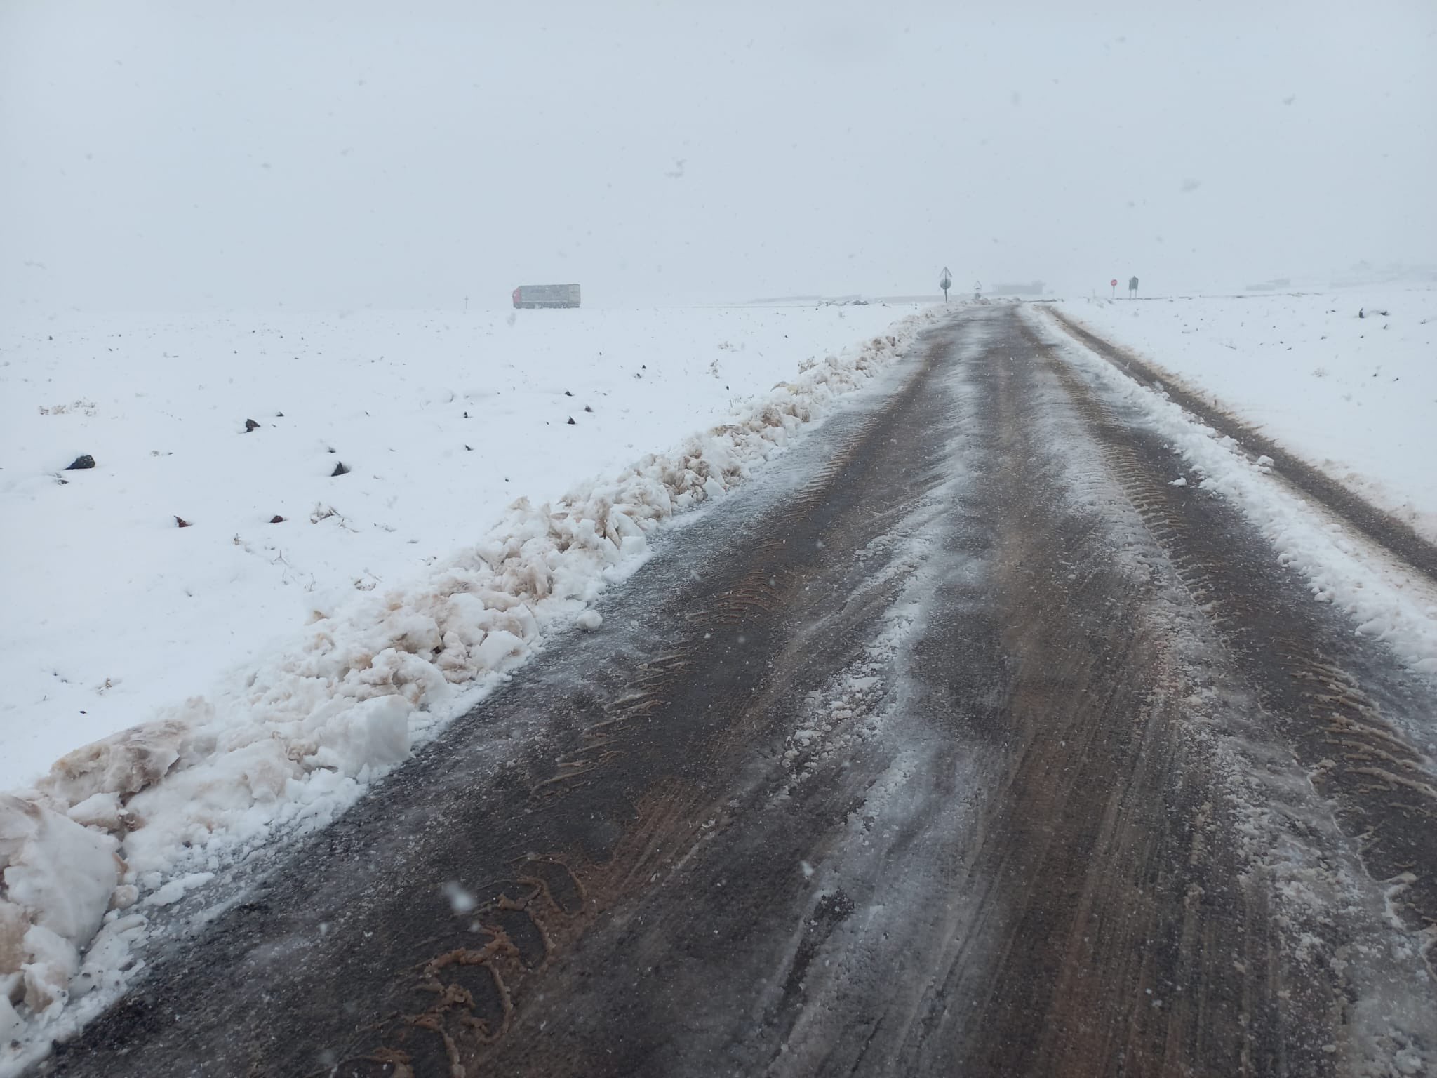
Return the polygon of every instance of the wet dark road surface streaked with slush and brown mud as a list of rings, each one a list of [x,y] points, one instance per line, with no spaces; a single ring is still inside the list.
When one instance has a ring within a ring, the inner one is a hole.
[[[42,1069],[1433,1074],[1433,688],[1059,332],[957,312]]]

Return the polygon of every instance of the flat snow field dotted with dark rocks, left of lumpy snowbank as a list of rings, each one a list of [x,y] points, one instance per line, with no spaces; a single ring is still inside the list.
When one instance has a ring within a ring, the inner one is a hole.
[[[6,322],[0,789],[473,543],[519,494],[616,473],[902,313]]]

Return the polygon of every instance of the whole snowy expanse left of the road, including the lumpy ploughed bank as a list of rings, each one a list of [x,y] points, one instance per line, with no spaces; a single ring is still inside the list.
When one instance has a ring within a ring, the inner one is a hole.
[[[891,362],[914,310],[11,326],[0,1074],[122,990],[147,906],[332,818],[546,628],[596,627],[648,529]]]

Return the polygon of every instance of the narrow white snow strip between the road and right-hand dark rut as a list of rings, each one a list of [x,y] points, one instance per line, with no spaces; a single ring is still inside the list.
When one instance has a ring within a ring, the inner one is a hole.
[[[1200,473],[1197,486],[1242,509],[1272,542],[1277,558],[1308,578],[1316,601],[1335,604],[1352,619],[1357,632],[1387,642],[1418,673],[1437,676],[1437,589],[1424,578],[1275,482],[1273,461],[1267,457],[1250,460],[1233,438],[1128,378],[1050,321],[1030,319],[1065,355],[1142,408],[1171,440],[1177,454],[1174,480],[1187,479],[1181,463]]]

